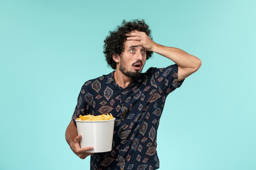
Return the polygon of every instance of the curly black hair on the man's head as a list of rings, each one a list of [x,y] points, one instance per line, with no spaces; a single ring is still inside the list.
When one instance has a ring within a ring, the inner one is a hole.
[[[145,32],[148,37],[152,40],[152,36],[150,35],[151,30],[148,29],[148,24],[145,23],[144,20],[133,20],[130,22],[126,22],[123,20],[120,26],[117,26],[117,29],[114,31],[109,31],[109,34],[104,40],[103,53],[105,54],[106,61],[108,65],[113,69],[117,68],[117,63],[112,59],[113,54],[121,55],[124,51],[124,42],[126,41],[127,36],[126,33],[130,33],[131,31],[137,30]],[[151,57],[153,51],[146,52],[146,60]]]

